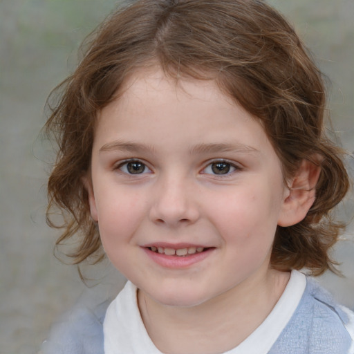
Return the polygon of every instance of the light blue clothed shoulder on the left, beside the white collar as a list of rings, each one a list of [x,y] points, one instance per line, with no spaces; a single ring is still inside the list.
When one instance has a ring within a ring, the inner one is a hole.
[[[103,321],[111,299],[91,308],[77,304],[53,324],[40,354],[103,354]]]

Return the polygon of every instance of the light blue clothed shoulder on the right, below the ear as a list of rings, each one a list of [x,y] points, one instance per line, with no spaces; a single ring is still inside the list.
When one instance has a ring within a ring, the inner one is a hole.
[[[317,281],[307,278],[299,306],[271,353],[290,347],[297,348],[292,354],[352,354],[353,329],[353,312],[339,306]]]

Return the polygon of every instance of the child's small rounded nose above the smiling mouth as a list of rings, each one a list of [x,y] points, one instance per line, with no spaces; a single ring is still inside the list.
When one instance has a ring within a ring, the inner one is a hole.
[[[153,190],[150,220],[169,227],[195,223],[200,216],[195,196],[196,187],[187,178],[160,180]]]

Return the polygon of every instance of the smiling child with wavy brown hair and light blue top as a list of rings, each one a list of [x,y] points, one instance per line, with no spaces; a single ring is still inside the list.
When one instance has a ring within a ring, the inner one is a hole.
[[[43,353],[354,353],[333,270],[348,190],[322,75],[257,0],[141,0],[95,33],[46,128],[74,263],[128,282]]]

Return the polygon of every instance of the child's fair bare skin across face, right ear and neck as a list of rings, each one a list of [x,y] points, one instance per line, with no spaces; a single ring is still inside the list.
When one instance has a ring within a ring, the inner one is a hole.
[[[304,218],[317,177],[304,162],[284,185],[261,124],[214,82],[176,83],[159,68],[131,77],[98,117],[84,183],[160,351],[221,353],[263,322],[289,279],[270,268],[277,225]],[[151,245],[207,252],[178,263]]]

